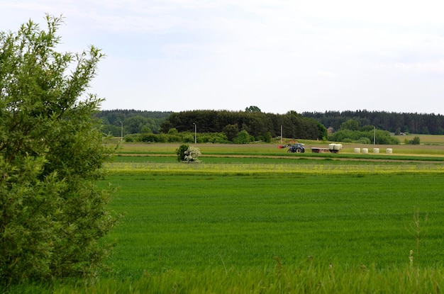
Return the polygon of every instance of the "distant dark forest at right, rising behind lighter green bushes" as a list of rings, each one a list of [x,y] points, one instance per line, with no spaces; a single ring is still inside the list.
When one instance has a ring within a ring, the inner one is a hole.
[[[340,125],[353,119],[361,126],[372,125],[380,130],[412,134],[444,135],[444,115],[424,113],[389,113],[385,111],[326,111],[304,112],[304,118],[313,118],[326,128],[339,130]]]

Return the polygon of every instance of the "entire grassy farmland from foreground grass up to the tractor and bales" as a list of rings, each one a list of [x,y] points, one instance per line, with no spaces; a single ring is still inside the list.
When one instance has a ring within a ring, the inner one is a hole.
[[[124,215],[112,271],[11,293],[442,293],[440,147],[201,145],[199,164],[177,147],[123,145],[99,183]]]

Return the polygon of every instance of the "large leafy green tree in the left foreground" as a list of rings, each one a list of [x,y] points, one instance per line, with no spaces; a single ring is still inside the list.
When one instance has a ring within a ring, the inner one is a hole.
[[[112,152],[87,94],[103,57],[60,53],[61,18],[0,33],[0,283],[94,274],[116,219],[96,181]]]

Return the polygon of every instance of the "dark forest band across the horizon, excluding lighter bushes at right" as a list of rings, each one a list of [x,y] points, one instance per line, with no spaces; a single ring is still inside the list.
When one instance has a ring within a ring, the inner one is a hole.
[[[136,111],[116,109],[99,111],[96,117],[103,123],[103,131],[113,136],[138,133],[226,132],[234,134],[246,130],[260,137],[269,133],[284,137],[322,139],[326,129],[340,130],[343,123],[354,120],[358,127],[374,126],[389,132],[444,135],[444,115],[424,113],[389,113],[384,111],[326,111],[286,114],[262,113],[256,106],[245,111]]]

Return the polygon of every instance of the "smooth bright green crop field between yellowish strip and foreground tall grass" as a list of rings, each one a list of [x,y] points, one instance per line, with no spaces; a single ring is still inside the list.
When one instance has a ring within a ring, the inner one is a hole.
[[[407,264],[416,240],[406,228],[428,214],[421,264],[440,264],[442,174],[430,175],[113,175],[112,208],[126,217],[116,275],[143,271],[298,264],[378,268]],[[131,254],[129,254],[131,252]]]

